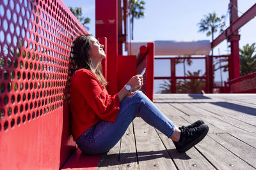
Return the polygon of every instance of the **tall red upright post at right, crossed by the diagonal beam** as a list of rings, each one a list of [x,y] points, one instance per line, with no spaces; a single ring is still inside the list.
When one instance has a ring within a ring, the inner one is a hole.
[[[230,25],[234,23],[237,18],[237,0],[230,0]],[[230,36],[228,37],[228,41],[230,41],[231,55],[230,55],[230,74],[229,80],[237,78],[240,76],[240,60],[239,60],[239,39],[240,35],[238,31],[232,30],[230,27]]]

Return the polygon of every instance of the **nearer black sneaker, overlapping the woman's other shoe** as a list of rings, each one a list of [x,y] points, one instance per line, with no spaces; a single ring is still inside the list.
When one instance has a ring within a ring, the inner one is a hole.
[[[177,152],[186,152],[197,143],[202,141],[209,131],[209,127],[205,124],[193,128],[184,128],[180,130],[180,140],[173,141]]]

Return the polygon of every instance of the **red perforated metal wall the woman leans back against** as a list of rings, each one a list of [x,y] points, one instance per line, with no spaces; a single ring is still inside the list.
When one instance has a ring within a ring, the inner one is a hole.
[[[60,0],[0,1],[0,169],[59,169],[69,125],[72,41],[88,34]]]

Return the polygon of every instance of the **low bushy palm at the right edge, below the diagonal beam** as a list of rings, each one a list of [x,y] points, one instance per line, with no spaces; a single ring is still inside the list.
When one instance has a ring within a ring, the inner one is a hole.
[[[241,76],[256,72],[256,52],[255,43],[249,46],[246,44],[243,49],[240,50],[240,73]]]

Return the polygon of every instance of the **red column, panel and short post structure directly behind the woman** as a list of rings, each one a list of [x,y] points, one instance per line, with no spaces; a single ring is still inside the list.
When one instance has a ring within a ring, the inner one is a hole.
[[[135,55],[122,55],[123,44],[127,43],[127,1],[97,0],[95,11],[96,37],[108,39],[106,78],[109,82],[107,87],[109,94],[116,94],[132,76],[140,73],[138,71],[143,66],[147,67],[144,76],[145,85],[143,88],[145,89],[143,90],[153,100],[154,44],[148,43],[147,53],[140,57],[139,61]]]

